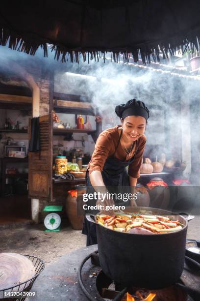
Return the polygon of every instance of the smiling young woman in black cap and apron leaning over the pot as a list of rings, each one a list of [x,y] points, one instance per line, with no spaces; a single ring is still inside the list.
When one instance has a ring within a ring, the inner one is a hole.
[[[109,128],[98,137],[86,173],[87,193],[97,191],[98,188],[101,193],[106,193],[109,186],[130,186],[134,191],[137,179],[140,177],[139,170],[146,144],[144,133],[149,110],[144,102],[131,99],[125,104],[116,106],[115,112],[120,117],[122,125]],[[91,200],[87,203],[88,205],[102,204],[101,200]],[[111,204],[113,201],[109,198],[103,201],[104,206]],[[134,198],[125,205],[140,206]],[[105,213],[112,214],[113,211]],[[86,219],[84,219],[82,233],[87,235],[87,245],[97,243],[95,225],[88,223]]]

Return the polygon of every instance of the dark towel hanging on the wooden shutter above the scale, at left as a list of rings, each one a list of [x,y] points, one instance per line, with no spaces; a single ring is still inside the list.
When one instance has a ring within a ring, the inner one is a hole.
[[[40,151],[40,124],[39,117],[31,119],[31,138],[28,151]]]

